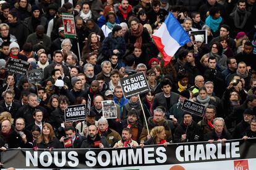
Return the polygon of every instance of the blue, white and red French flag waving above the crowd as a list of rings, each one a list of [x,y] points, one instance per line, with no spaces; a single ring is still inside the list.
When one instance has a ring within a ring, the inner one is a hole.
[[[171,58],[181,46],[191,41],[171,12],[169,12],[161,27],[153,34],[153,40],[163,56],[164,66],[171,61]]]

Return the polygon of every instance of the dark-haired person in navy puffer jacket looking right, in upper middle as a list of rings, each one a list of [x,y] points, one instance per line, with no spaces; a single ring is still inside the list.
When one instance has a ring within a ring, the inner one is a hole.
[[[126,52],[126,42],[121,35],[122,27],[120,25],[115,25],[112,33],[109,33],[109,36],[103,41],[101,53],[105,56],[106,60],[113,54],[117,54],[120,58]]]

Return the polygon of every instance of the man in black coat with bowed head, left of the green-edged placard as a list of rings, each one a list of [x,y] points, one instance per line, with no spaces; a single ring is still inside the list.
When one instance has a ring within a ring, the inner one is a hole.
[[[45,27],[43,25],[38,25],[36,27],[35,33],[28,35],[26,43],[31,43],[33,48],[35,46],[43,46],[46,52],[49,52],[51,48],[51,38],[47,36],[45,33]]]

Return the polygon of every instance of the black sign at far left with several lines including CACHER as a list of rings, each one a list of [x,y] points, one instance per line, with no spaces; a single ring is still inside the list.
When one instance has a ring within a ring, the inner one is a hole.
[[[9,58],[6,64],[7,70],[12,74],[26,75],[30,67],[30,63],[21,59]]]

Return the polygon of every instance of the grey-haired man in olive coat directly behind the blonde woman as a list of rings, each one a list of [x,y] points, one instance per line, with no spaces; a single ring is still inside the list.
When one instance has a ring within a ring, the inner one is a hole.
[[[165,129],[165,133],[166,133],[166,141],[169,142],[173,138],[172,130],[174,130],[174,125],[173,125],[173,122],[164,118],[165,113],[164,113],[163,109],[161,109],[160,107],[156,108],[153,111],[154,112],[153,117],[148,118],[148,130],[151,131],[151,129],[153,129],[154,127],[163,125],[163,127]],[[148,140],[149,138],[151,138],[151,136],[147,132],[147,127],[144,126],[142,129],[142,133],[140,134],[140,138],[139,138],[140,143],[143,143],[144,141]]]

